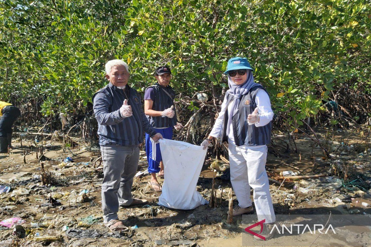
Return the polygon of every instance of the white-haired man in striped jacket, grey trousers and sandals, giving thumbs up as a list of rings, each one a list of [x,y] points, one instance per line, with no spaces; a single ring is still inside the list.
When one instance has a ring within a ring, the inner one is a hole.
[[[105,225],[112,231],[128,230],[117,212],[119,206],[147,203],[132,198],[131,187],[139,162],[139,144],[143,132],[153,141],[162,139],[151,126],[142,109],[136,90],[128,85],[128,65],[111,60],[105,65],[109,84],[93,96],[93,110],[98,121],[99,145],[102,151],[104,179],[102,209]]]

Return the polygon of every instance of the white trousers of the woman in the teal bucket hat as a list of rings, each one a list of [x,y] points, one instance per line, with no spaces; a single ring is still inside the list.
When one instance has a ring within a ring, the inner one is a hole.
[[[240,207],[252,205],[250,187],[258,220],[265,223],[276,221],[272,198],[269,192],[268,176],[265,170],[267,146],[249,148],[228,145],[231,183]]]

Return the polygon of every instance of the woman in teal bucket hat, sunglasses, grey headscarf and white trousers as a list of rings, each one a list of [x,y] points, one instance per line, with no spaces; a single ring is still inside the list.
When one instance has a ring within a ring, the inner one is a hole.
[[[231,183],[239,202],[233,216],[253,213],[252,187],[258,220],[266,223],[261,235],[267,240],[275,234],[270,231],[276,221],[265,170],[273,111],[266,90],[254,82],[252,71],[246,58],[228,61],[224,74],[228,76],[229,90],[214,127],[201,146],[207,148],[218,137],[221,142],[228,141]]]

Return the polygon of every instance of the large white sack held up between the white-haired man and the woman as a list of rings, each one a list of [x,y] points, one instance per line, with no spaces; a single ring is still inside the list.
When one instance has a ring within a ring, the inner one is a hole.
[[[165,178],[158,204],[189,210],[208,203],[196,190],[207,150],[183,141],[159,142]]]

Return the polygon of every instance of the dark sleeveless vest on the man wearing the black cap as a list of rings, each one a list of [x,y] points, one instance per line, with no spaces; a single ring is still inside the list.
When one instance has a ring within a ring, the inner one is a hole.
[[[175,97],[175,91],[170,87],[167,86],[162,87],[160,84],[152,85],[150,86],[154,89],[155,92],[155,100],[153,101],[152,110],[155,111],[163,111],[165,109],[170,108],[171,106],[174,106],[174,97]],[[150,87],[147,87],[149,89]],[[147,90],[146,89],[146,90]],[[164,90],[167,90],[167,92],[170,94],[171,98],[167,95],[167,93],[164,92]],[[175,106],[174,106],[175,111]],[[164,127],[173,127],[177,124],[177,114],[174,114],[173,118],[168,117],[152,117],[147,116],[148,121],[154,128],[164,128]]]

